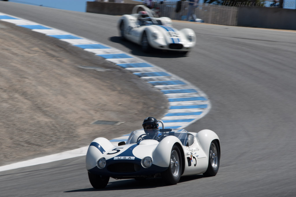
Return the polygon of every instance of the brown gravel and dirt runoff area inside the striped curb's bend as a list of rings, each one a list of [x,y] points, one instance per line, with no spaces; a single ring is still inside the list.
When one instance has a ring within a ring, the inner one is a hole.
[[[6,22],[0,35],[0,166],[110,140],[167,111],[163,94],[99,56]]]

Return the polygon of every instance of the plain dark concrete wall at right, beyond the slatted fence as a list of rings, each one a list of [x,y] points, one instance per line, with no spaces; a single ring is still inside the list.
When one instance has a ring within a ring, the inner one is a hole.
[[[238,26],[296,30],[296,10],[270,7],[239,7]]]

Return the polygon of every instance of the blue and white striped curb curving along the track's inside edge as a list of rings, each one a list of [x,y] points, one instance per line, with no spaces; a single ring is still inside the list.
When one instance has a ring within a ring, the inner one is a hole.
[[[105,60],[130,71],[132,74],[139,76],[148,84],[160,90],[160,92],[162,92],[163,95],[167,97],[169,104],[168,112],[163,118],[160,119],[165,123],[165,128],[184,128],[205,116],[210,110],[210,101],[208,100],[207,95],[205,95],[205,93],[199,88],[195,87],[185,79],[182,79],[154,64],[150,64],[141,58],[127,54],[124,51],[112,48],[94,40],[89,40],[69,32],[58,30],[1,12],[0,20],[13,23],[17,26],[25,27],[31,29],[32,31],[40,32],[47,36],[70,43],[73,46],[94,53],[96,56],[100,56]],[[110,141],[126,141],[128,136],[129,134],[126,134]],[[81,149],[84,150],[85,148],[86,147],[82,147]],[[79,152],[79,154],[77,153],[78,156],[81,156],[81,149],[75,149],[76,152]],[[73,152],[75,152],[75,150],[73,150]],[[62,158],[61,154],[62,153],[55,155],[58,155]],[[68,155],[69,151],[65,152],[65,154]],[[75,154],[73,153],[73,155]],[[46,159],[44,157],[41,158],[43,158],[43,161],[41,162],[46,163],[44,162]],[[65,158],[69,157],[67,156]],[[38,164],[36,160],[34,162],[34,165]],[[21,164],[18,163],[18,165]]]

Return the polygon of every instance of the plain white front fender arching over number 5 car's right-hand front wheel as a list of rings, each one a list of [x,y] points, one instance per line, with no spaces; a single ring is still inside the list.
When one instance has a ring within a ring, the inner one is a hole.
[[[153,164],[160,167],[168,167],[170,165],[171,150],[175,143],[182,147],[181,141],[175,136],[167,136],[160,141],[152,154]]]

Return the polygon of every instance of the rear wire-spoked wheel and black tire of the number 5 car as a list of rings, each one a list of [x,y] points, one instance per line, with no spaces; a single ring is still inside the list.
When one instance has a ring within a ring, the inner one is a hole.
[[[203,173],[206,177],[215,176],[219,170],[220,165],[220,150],[217,141],[212,141],[209,150],[209,164],[207,171]]]

